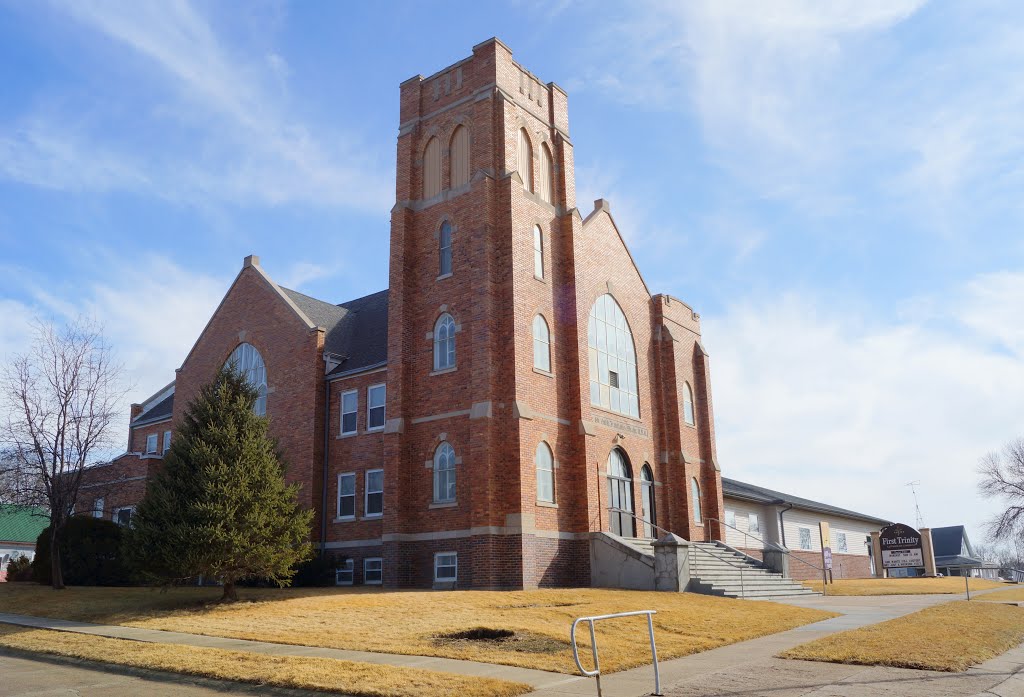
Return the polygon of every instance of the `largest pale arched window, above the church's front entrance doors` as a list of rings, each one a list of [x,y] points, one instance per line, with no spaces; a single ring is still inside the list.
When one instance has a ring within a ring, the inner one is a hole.
[[[640,418],[637,352],[623,309],[610,295],[590,308],[587,328],[590,358],[590,403],[634,419]]]

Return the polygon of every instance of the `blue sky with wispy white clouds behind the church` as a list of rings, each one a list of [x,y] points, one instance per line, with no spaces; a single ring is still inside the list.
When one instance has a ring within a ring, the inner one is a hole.
[[[727,475],[912,521],[1024,435],[1013,2],[0,1],[0,353],[103,321],[141,399],[242,258],[387,282],[398,83],[499,36],[569,93],[579,205],[692,304]]]

